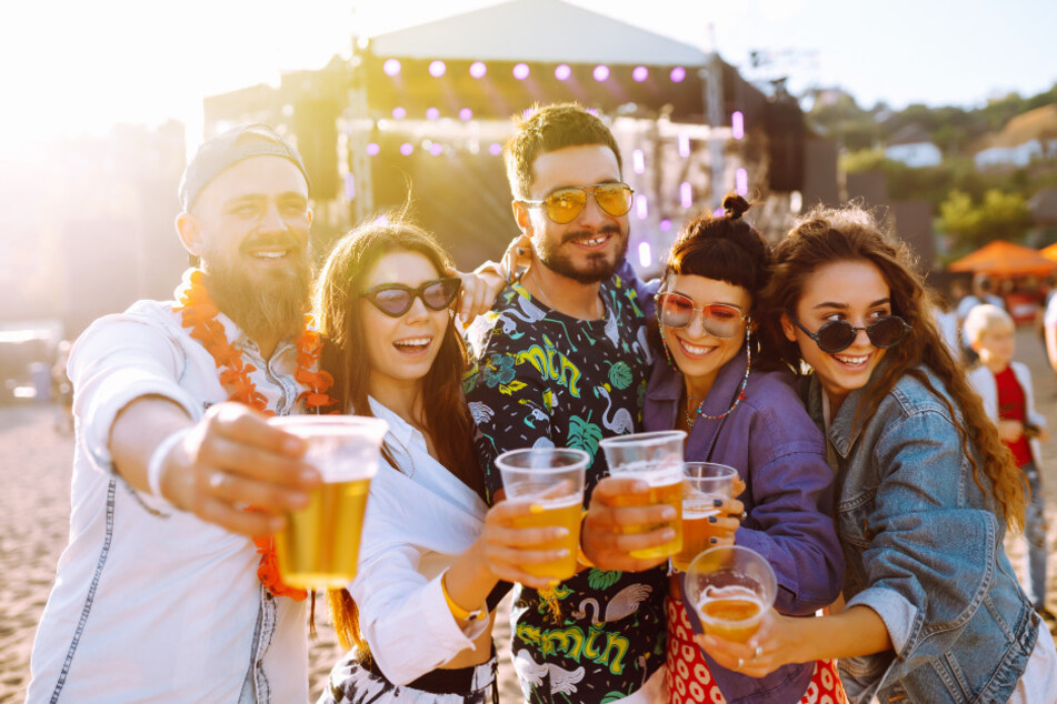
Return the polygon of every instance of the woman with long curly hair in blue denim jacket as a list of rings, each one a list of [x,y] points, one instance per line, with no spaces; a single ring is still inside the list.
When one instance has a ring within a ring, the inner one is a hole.
[[[817,209],[778,245],[762,332],[814,370],[802,386],[837,470],[847,604],[771,612],[747,644],[699,643],[755,676],[838,657],[855,702],[1053,702],[1057,652],[1003,551],[1024,475],[909,261],[857,208]]]

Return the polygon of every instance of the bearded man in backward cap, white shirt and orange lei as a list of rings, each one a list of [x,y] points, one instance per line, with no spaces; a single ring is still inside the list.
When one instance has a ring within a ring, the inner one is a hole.
[[[267,422],[326,394],[305,320],[308,177],[278,133],[247,125],[201,145],[180,198],[200,266],[177,301],[97,320],[70,356],[70,543],[29,702],[308,700],[305,594],[249,537],[319,482]]]

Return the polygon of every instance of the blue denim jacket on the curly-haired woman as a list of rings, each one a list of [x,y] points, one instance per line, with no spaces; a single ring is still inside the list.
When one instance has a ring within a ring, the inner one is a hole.
[[[1003,550],[994,500],[973,479],[954,402],[931,371],[920,371],[935,392],[904,375],[856,422],[868,385],[858,389],[827,433],[838,466],[845,599],[877,612],[894,647],[841,660],[841,680],[851,701],[1005,702],[1035,646],[1038,617]],[[807,404],[822,426],[817,379]],[[983,472],[979,480],[988,486]]]

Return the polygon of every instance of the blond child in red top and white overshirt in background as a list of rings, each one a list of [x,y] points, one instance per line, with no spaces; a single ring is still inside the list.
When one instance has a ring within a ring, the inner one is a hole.
[[[1046,514],[1039,477],[1040,442],[1048,442],[1046,418],[1035,410],[1031,372],[1013,361],[1016,328],[1009,314],[994,305],[977,305],[965,321],[965,332],[979,365],[969,370],[969,382],[984,400],[984,411],[998,425],[1001,441],[1027,475],[1030,496],[1024,516],[1028,543],[1028,583],[1025,590],[1035,611],[1051,625],[1057,617],[1046,609]]]

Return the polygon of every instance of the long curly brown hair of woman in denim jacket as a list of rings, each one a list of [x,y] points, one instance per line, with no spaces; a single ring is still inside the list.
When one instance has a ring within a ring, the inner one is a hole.
[[[1026,501],[1024,472],[1017,469],[995,423],[984,412],[979,395],[944,344],[931,312],[937,302],[917,273],[909,249],[895,240],[869,212],[857,205],[816,208],[778,243],[770,284],[764,294],[767,310],[760,332],[767,336],[765,344],[774,345],[795,372],[802,371],[800,348],[782,334],[780,319],[782,313],[796,309],[811,275],[819,268],[838,261],[866,261],[877,266],[890,290],[893,314],[910,325],[903,342],[885,353],[884,373],[867,390],[855,423],[871,418],[903,376],[915,378],[947,404],[961,435],[963,452],[973,465],[976,485],[985,495],[994,495],[1007,526],[1020,529]],[[947,396],[935,389],[919,366],[928,368],[940,379],[961,411],[960,420]],[[970,450],[970,443],[976,453]],[[984,487],[980,472],[990,481],[991,492]]]

